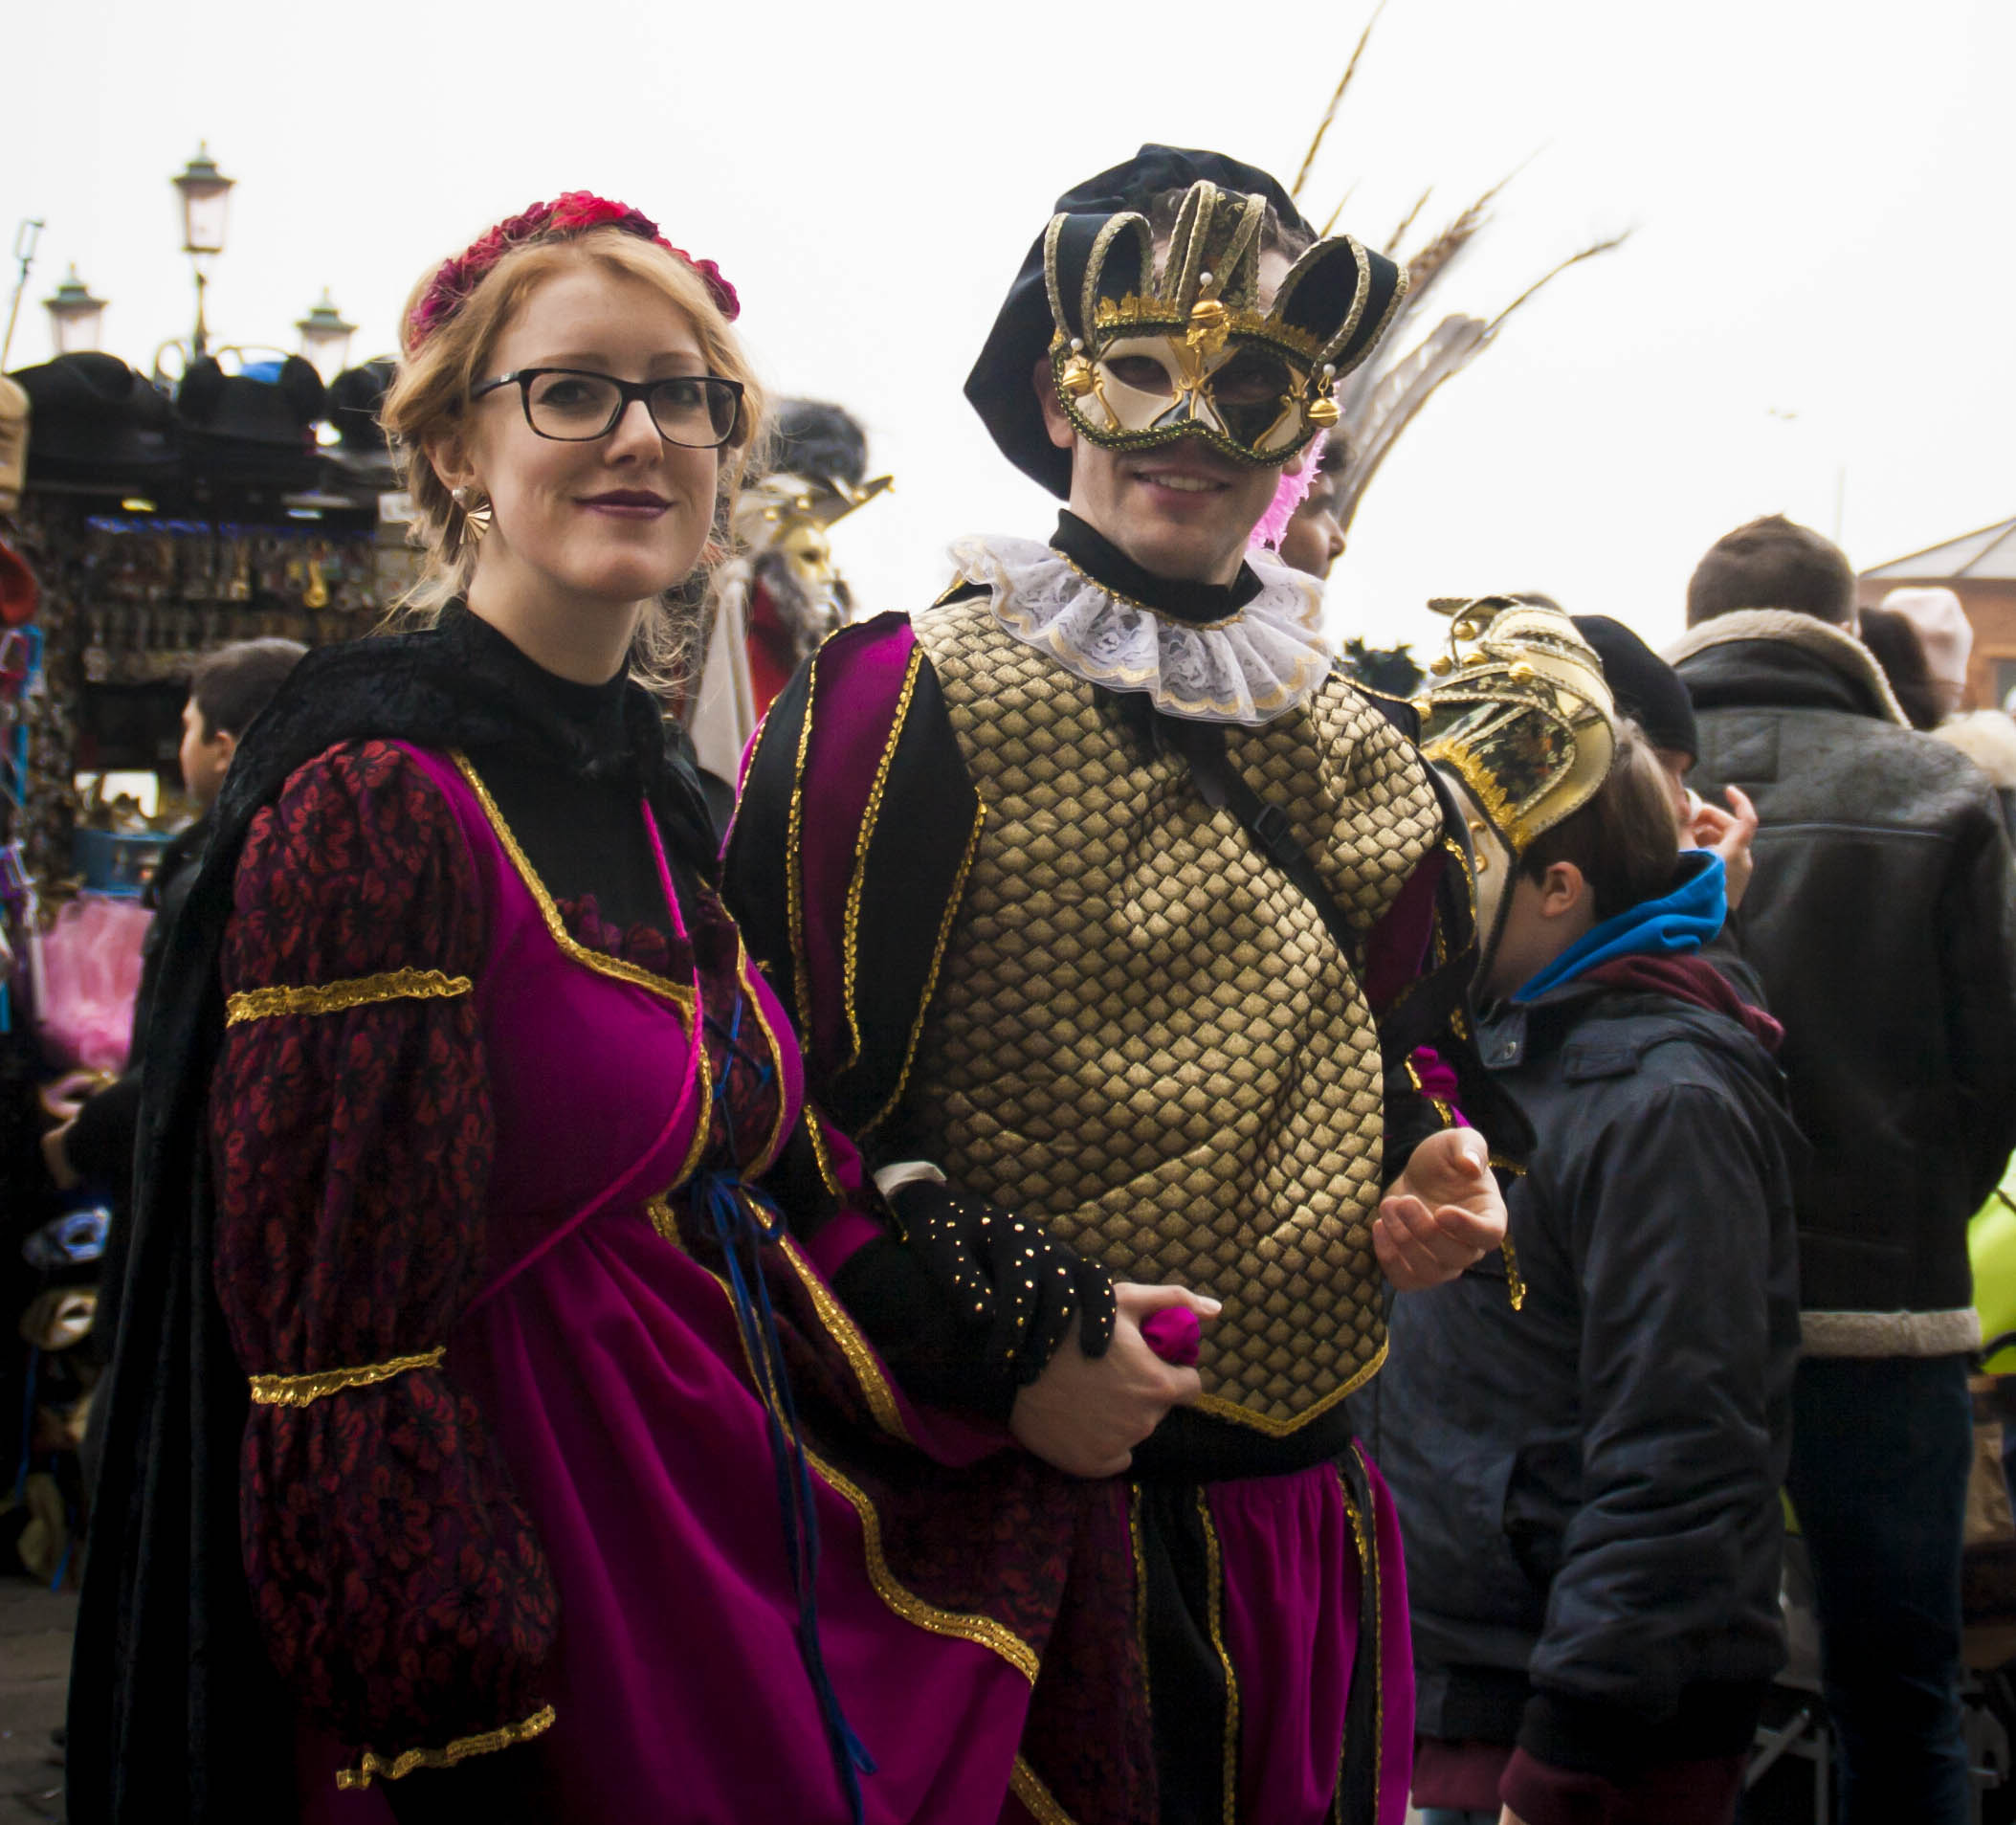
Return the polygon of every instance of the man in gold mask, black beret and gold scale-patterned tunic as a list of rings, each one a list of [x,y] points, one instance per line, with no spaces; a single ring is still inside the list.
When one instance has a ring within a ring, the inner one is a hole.
[[[1333,665],[1312,579],[1248,559],[1403,290],[1218,153],[1066,194],[966,389],[1056,532],[964,540],[927,613],[827,641],[746,770],[726,891],[891,1216],[837,1291],[913,1391],[1125,1523],[1131,1615],[1052,1639],[1004,1817],[1405,1811],[1399,1541],[1345,1397],[1391,1289],[1504,1234],[1466,1117],[1520,1123],[1468,1041],[1464,823],[1411,712]],[[1030,1232],[1040,1264],[990,1266]],[[903,1272],[939,1319],[905,1327]],[[1198,1383],[1107,1424],[1147,1351]],[[1089,1692],[1117,1734],[1068,1718]]]

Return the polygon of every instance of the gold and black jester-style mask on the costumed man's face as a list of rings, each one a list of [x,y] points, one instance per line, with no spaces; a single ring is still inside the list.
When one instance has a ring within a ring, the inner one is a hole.
[[[1407,272],[1349,234],[1331,236],[1296,258],[1262,311],[1266,210],[1258,192],[1200,179],[1159,266],[1147,216],[1050,218],[1050,373],[1091,442],[1151,450],[1200,436],[1258,466],[1286,462],[1337,423],[1331,387],[1373,351]],[[1125,359],[1163,379],[1131,385],[1109,365]]]

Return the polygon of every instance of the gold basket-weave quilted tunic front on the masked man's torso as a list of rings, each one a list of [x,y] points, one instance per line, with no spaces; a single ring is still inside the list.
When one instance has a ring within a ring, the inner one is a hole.
[[[1302,1426],[1385,1355],[1381,1059],[1314,907],[986,597],[915,617],[986,819],[913,1083],[954,1180],[1117,1276],[1224,1301],[1204,1406]],[[1435,845],[1413,748],[1341,678],[1228,754],[1359,932]]]

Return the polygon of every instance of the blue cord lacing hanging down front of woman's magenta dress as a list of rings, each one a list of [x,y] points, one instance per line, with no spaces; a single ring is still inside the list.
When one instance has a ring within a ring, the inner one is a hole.
[[[708,1026],[726,1041],[730,1051],[728,1069],[714,1085],[714,1101],[722,1111],[730,1145],[734,1145],[734,1113],[728,1107],[728,1079],[734,1063],[740,1059],[756,1071],[758,1089],[770,1081],[770,1065],[740,1047],[742,1006],[738,996],[734,1018],[726,1028],[712,1018],[708,1020]],[[722,1244],[722,1258],[728,1262],[728,1291],[736,1307],[736,1325],[742,1329],[742,1347],[756,1373],[756,1393],[762,1400],[764,1426],[770,1434],[776,1504],[784,1520],[790,1587],[798,1599],[798,1658],[804,1662],[812,1696],[818,1700],[818,1714],[827,1726],[827,1746],[841,1777],[841,1791],[847,1795],[849,1817],[853,1825],[863,1825],[861,1777],[875,1773],[875,1758],[841,1710],[841,1694],[833,1690],[827,1656],[818,1644],[818,1514],[812,1508],[812,1472],[804,1460],[804,1438],[798,1432],[798,1404],[790,1391],[784,1339],[778,1335],[770,1287],[762,1272],[762,1246],[784,1234],[784,1218],[740,1174],[702,1168],[694,1174],[694,1198],[706,1210],[714,1236]]]

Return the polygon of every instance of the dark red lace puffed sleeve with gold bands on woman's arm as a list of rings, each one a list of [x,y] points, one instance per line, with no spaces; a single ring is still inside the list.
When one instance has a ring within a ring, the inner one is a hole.
[[[252,1379],[246,1575],[274,1666],[361,1752],[347,1785],[552,1716],[552,1577],[439,1367],[484,1248],[482,942],[462,833],[401,750],[333,748],[254,821],[210,1103],[216,1283]]]

